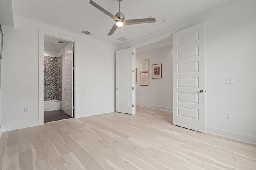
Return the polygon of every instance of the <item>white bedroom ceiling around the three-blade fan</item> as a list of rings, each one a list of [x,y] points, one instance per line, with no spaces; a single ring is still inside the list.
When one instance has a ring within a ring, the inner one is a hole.
[[[118,12],[117,0],[94,0],[113,15]],[[112,36],[107,36],[115,21],[89,4],[89,0],[14,0],[14,14],[49,25],[60,27],[75,33],[82,30],[92,32],[84,35],[108,43],[120,45],[117,40],[126,37],[129,40],[182,21],[193,15],[219,6],[227,0],[123,0],[121,12],[126,19],[156,18],[156,23],[125,25],[118,28]],[[163,20],[168,18],[169,22]],[[127,41],[125,41],[127,42]]]

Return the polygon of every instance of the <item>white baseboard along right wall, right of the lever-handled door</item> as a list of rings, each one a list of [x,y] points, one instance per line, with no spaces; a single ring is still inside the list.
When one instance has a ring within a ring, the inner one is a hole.
[[[235,133],[235,132],[230,132],[230,131],[225,131],[225,130],[217,129],[214,127],[206,127],[206,133],[211,133],[214,135],[227,137],[227,138],[235,139],[238,141],[256,144],[256,137],[244,135],[244,134],[240,134],[240,133]]]

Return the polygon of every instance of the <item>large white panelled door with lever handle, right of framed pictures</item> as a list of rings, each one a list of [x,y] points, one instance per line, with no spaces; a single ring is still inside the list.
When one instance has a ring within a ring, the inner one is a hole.
[[[205,23],[173,34],[173,124],[205,133]]]

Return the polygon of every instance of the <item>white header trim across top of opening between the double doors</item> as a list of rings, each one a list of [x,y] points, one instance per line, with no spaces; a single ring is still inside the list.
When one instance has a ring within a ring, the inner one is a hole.
[[[161,40],[170,38],[172,36],[172,34],[177,32],[177,31],[178,31],[178,29],[174,29],[174,30],[169,31],[167,33],[163,33],[161,35],[157,35],[157,36],[152,37],[150,39],[147,39],[147,40],[141,41],[139,43],[133,44],[133,45],[131,45],[131,47],[138,48],[138,47],[142,47],[142,46],[145,46],[145,45],[148,45],[148,44],[155,43],[157,41],[161,41]]]

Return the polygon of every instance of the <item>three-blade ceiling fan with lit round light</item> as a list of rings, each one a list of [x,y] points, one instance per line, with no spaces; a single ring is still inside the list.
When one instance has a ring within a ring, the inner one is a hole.
[[[90,2],[89,2],[92,6],[94,6],[95,8],[98,8],[100,11],[104,12],[105,14],[107,14],[108,16],[110,16],[111,18],[113,18],[116,21],[116,23],[110,29],[108,36],[112,35],[114,33],[114,31],[116,31],[117,27],[122,27],[123,25],[156,22],[155,18],[141,18],[141,19],[125,20],[124,14],[122,12],[120,12],[120,2],[122,0],[117,0],[117,1],[119,2],[119,12],[116,13],[116,15],[111,14],[110,12],[108,12],[107,10],[105,10],[104,8],[102,8],[101,6],[99,6],[98,4],[93,2],[92,0],[90,0]]]

